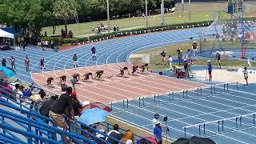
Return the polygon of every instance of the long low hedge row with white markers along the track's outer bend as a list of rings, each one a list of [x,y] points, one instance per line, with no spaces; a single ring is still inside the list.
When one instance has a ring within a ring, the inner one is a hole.
[[[48,40],[48,41],[54,41],[54,42],[62,42],[62,44],[70,44],[70,45],[80,45],[84,43],[90,43],[90,42],[98,42],[114,37],[123,37],[128,35],[134,35],[134,34],[146,34],[150,32],[156,32],[156,31],[164,31],[164,30],[178,30],[178,29],[188,29],[192,27],[201,27],[201,26],[210,26],[210,24],[213,21],[207,21],[207,22],[189,22],[186,24],[176,24],[176,25],[170,25],[170,26],[153,26],[149,28],[140,28],[140,29],[134,29],[134,30],[121,30],[112,32],[110,34],[101,34],[101,35],[94,35],[90,36],[89,38],[60,38],[60,37],[43,37],[42,40]]]

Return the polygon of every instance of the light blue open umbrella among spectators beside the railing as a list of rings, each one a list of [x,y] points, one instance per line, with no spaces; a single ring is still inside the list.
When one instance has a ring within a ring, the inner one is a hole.
[[[99,109],[98,107],[90,110],[83,110],[78,122],[83,122],[86,125],[92,125],[98,122],[105,122],[106,116],[109,113],[106,110]]]

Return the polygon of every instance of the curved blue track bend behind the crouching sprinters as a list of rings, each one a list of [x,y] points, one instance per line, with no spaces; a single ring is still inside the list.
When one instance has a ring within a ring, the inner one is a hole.
[[[58,53],[53,51],[42,51],[36,48],[27,48],[26,51],[1,51],[0,56],[1,58],[6,58],[7,60],[10,58],[10,56],[14,56],[17,61],[17,77],[24,82],[34,82],[30,75],[32,73],[42,72],[42,70],[39,69],[41,58],[45,58],[45,71],[72,69],[72,58],[74,54],[78,55],[79,67],[128,62],[129,55],[134,51],[190,41],[191,36],[196,39],[199,38],[199,34],[202,33],[212,34],[213,29],[211,27],[203,27],[190,30],[174,30],[94,43],[94,46],[97,48],[97,61],[93,61],[91,58],[91,45]],[[26,72],[25,70],[24,60],[26,55],[28,55],[30,58],[30,73]]]

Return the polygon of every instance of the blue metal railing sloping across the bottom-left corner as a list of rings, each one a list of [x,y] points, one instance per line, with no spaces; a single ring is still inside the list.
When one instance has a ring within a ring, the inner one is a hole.
[[[79,134],[73,134],[70,132],[67,132],[65,130],[58,129],[54,126],[49,126],[45,122],[38,122],[36,120],[31,119],[30,117],[26,118],[19,114],[11,113],[7,110],[0,109],[0,116],[2,118],[2,123],[0,124],[0,127],[3,130],[3,134],[5,134],[6,130],[11,130],[14,133],[17,134],[23,134],[27,138],[28,143],[38,143],[41,142],[50,142],[50,143],[58,143],[58,138],[56,137],[57,134],[61,136],[60,142],[65,142],[65,136],[67,138],[80,140],[82,142],[90,142],[93,143],[91,140],[79,135]],[[15,128],[11,124],[8,124],[5,122],[5,118],[8,118],[12,120],[13,122],[22,123],[25,125],[26,130],[21,130],[18,128]],[[33,130],[35,129],[35,130]],[[39,134],[39,131],[37,130],[44,130],[46,131],[46,135]],[[18,139],[20,141],[21,139]]]

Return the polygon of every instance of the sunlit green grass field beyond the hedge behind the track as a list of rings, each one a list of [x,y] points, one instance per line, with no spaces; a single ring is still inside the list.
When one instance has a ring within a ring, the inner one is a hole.
[[[174,13],[165,14],[165,24],[178,24],[178,23],[186,23],[190,22],[189,20],[189,8],[188,5],[184,6],[184,12],[182,10],[181,4],[176,4],[176,10]],[[191,5],[191,22],[203,22],[208,20],[213,20],[214,17],[218,16],[218,11],[226,11],[227,10],[227,2],[192,2]],[[246,9],[247,17],[256,17],[256,5],[250,5]],[[160,26],[161,16],[154,15],[149,18],[149,26]],[[103,23],[105,26],[107,25],[106,20],[103,21],[95,21],[95,22],[84,22],[80,24],[70,24],[68,25],[68,30],[72,30],[74,37],[81,36],[86,34],[94,34],[92,29],[95,26],[98,26],[99,23]],[[146,18],[122,18],[115,19],[110,21],[110,27],[114,26],[119,27],[121,30],[123,29],[134,29],[140,27],[146,27]],[[61,34],[62,28],[64,26],[57,26],[55,34]],[[42,34],[47,31],[48,36],[53,34],[53,29],[51,26],[42,28]]]

